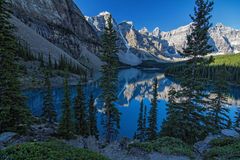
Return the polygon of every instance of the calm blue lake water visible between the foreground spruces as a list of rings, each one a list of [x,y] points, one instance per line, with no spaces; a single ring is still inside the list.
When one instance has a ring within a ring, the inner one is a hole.
[[[147,106],[149,111],[152,99],[152,84],[154,78],[158,79],[158,126],[161,128],[162,121],[166,118],[166,104],[168,101],[168,91],[170,87],[179,88],[180,86],[174,83],[170,78],[165,77],[159,70],[140,70],[136,68],[122,69],[118,73],[118,101],[115,103],[121,112],[121,129],[119,137],[132,138],[137,127],[137,119],[141,100]],[[76,86],[71,86],[71,100],[73,104],[76,96]],[[40,116],[43,106],[43,91],[44,89],[26,90],[24,95],[28,98],[27,103],[33,115]],[[98,107],[98,128],[101,132],[101,106],[99,96],[101,89],[98,87],[98,82],[88,84],[84,87],[86,95],[93,92],[95,104]],[[64,96],[63,88],[53,89],[54,105],[57,111],[58,119],[61,117],[61,103]],[[88,97],[88,96],[87,96]],[[230,105],[230,116],[234,120],[234,114],[240,108],[240,87],[231,86],[229,91],[228,101]]]

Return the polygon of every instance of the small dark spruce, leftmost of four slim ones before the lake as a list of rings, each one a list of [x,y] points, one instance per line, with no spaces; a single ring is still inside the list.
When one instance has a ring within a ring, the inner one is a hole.
[[[56,112],[53,105],[53,96],[52,96],[52,86],[51,81],[49,77],[50,73],[47,70],[45,72],[45,82],[44,87],[46,89],[44,93],[44,99],[43,99],[43,118],[49,123],[53,123],[56,121]]]

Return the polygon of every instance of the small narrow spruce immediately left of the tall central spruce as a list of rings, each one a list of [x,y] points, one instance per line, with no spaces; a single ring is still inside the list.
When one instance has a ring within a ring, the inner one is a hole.
[[[94,97],[91,94],[89,100],[89,135],[98,138],[98,128],[97,128],[97,108],[94,105]]]

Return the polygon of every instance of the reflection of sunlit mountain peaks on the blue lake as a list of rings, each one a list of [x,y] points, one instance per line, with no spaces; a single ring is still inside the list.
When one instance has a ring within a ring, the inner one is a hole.
[[[174,83],[163,73],[156,70],[139,70],[135,68],[124,69],[119,72],[119,106],[128,107],[131,100],[141,101],[152,99],[152,84],[154,78],[158,79],[158,99],[168,101],[168,93],[171,87],[176,90],[180,85]],[[240,88],[230,87],[228,103],[240,106]]]

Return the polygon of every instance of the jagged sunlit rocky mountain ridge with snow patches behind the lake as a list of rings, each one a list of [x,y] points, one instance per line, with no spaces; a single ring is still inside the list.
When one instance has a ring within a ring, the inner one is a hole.
[[[90,25],[101,35],[106,25],[106,19],[110,16],[109,12],[102,12],[94,17],[85,16]],[[117,23],[112,19],[116,31],[118,32],[120,50],[126,52],[130,47],[131,53],[140,60],[176,61],[181,59],[179,53],[186,47],[186,37],[191,32],[191,23],[179,27],[169,32],[162,32],[159,27],[150,32],[146,27],[136,30],[134,23],[124,21]],[[210,28],[209,44],[213,46],[214,53],[238,53],[240,52],[240,31],[226,27],[222,24]],[[152,59],[151,59],[151,58]]]

